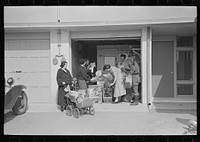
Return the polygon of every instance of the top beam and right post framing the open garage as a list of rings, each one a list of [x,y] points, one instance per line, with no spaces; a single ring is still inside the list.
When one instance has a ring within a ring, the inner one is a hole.
[[[138,30],[118,31],[80,31],[70,32],[71,40],[98,40],[101,38],[140,38],[141,39],[141,102],[152,102],[152,29],[143,27]],[[72,64],[72,63],[71,63]]]

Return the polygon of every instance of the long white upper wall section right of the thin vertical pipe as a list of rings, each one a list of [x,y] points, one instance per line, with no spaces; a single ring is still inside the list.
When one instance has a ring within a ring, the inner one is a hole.
[[[73,16],[72,16],[73,15]],[[166,6],[82,6],[60,7],[62,22],[71,21],[120,21],[142,19],[169,19],[196,17],[195,7]]]

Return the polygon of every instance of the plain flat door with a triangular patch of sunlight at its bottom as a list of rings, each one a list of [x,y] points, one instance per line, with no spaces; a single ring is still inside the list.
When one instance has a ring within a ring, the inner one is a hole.
[[[174,44],[153,42],[153,97],[174,97]]]

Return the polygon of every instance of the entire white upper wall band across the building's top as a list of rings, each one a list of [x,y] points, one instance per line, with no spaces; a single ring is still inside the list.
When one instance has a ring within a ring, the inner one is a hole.
[[[4,7],[4,23],[106,22],[195,18],[196,7],[166,6],[20,6]],[[102,23],[105,24],[105,23]]]

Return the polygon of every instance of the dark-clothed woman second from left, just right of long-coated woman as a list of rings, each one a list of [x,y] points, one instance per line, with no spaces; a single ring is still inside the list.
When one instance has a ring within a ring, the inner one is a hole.
[[[90,81],[90,78],[87,76],[87,69],[85,67],[86,60],[85,59],[80,59],[79,60],[79,64],[80,64],[80,66],[78,68],[79,89],[87,90],[87,88],[88,88],[87,82]]]

